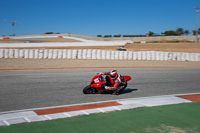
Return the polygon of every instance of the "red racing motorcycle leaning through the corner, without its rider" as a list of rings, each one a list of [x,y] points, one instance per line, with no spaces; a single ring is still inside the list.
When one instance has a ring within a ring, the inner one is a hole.
[[[113,92],[111,90],[106,90],[105,86],[111,86],[111,80],[108,77],[108,73],[97,73],[96,76],[92,78],[92,81],[90,82],[90,85],[86,86],[83,88],[83,93],[84,94],[95,94],[95,93],[110,93],[112,94]],[[122,76],[120,75],[121,78],[121,83],[119,84],[119,93],[123,91],[127,85],[128,81],[131,80],[130,76]]]

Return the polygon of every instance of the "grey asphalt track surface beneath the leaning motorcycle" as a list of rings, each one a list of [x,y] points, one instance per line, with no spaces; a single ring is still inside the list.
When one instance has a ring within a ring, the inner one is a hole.
[[[200,92],[200,68],[118,68],[132,80],[120,95],[84,95],[97,72],[111,69],[0,71],[0,112]]]

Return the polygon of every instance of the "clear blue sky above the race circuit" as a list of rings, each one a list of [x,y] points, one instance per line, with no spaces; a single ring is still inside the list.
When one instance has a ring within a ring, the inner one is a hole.
[[[0,36],[44,34],[160,34],[195,30],[200,0],[0,0]],[[199,13],[200,14],[200,13]],[[200,18],[200,17],[199,17]]]

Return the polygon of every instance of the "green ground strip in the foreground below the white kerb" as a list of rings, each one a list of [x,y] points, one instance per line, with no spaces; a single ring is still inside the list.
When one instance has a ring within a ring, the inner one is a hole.
[[[0,127],[1,133],[200,133],[200,102]]]

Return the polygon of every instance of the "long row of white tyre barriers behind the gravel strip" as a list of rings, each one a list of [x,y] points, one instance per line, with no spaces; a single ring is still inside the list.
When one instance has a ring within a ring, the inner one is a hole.
[[[96,49],[0,49],[0,58],[200,61],[200,53]]]

